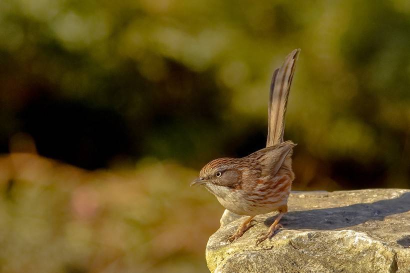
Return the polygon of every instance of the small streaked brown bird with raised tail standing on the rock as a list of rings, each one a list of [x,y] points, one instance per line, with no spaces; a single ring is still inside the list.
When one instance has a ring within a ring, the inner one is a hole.
[[[283,141],[284,116],[295,62],[300,49],[287,55],[273,72],[269,93],[266,148],[242,158],[218,158],[207,163],[191,185],[204,185],[228,210],[249,216],[228,240],[240,237],[254,216],[278,211],[275,221],[256,244],[274,236],[282,227],[280,218],[287,212],[287,197],[294,179],[292,141]]]

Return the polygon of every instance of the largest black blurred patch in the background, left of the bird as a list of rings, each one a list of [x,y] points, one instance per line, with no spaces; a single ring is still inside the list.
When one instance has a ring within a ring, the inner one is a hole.
[[[130,149],[127,124],[112,109],[40,95],[17,116],[39,154],[86,169],[103,167]]]

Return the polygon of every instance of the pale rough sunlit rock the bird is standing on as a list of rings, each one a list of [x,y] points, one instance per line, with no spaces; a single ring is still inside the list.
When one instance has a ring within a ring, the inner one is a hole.
[[[292,192],[269,241],[255,245],[275,214],[232,243],[245,216],[228,210],[206,245],[211,272],[410,272],[410,190]]]

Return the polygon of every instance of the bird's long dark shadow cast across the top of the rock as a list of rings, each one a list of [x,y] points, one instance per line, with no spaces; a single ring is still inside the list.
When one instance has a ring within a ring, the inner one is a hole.
[[[386,216],[407,211],[410,211],[410,192],[403,193],[394,199],[380,200],[373,203],[289,211],[282,217],[280,223],[287,229],[329,230],[361,223],[365,223],[362,225],[364,227],[362,229],[374,229],[377,226],[376,221],[382,221]],[[276,215],[267,218],[264,224],[269,226],[275,218]]]

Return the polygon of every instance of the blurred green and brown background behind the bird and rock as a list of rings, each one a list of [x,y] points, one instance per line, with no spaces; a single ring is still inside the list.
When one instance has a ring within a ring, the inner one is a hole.
[[[296,190],[410,187],[410,1],[1,0],[0,271],[207,272],[199,169],[264,147],[301,48]]]

